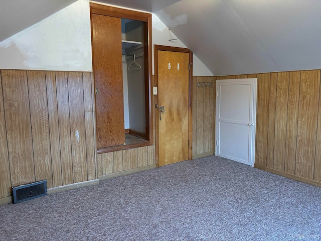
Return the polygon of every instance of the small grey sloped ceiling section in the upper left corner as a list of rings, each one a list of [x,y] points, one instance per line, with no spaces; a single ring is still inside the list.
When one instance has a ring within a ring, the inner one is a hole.
[[[0,42],[77,0],[0,0]]]

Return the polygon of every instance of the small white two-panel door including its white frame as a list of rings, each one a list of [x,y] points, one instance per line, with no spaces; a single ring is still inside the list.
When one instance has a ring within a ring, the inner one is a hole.
[[[216,81],[215,155],[254,166],[256,78]]]

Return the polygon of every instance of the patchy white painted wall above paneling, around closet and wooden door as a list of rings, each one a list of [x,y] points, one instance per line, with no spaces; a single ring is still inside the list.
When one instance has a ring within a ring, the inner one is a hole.
[[[153,14],[152,44],[186,48],[170,38],[168,28]],[[195,55],[193,65],[193,75],[213,76]],[[89,0],[78,0],[0,42],[0,69],[92,71]]]

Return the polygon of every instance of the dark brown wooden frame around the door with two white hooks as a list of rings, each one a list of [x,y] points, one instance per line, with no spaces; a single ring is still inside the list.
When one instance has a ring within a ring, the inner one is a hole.
[[[192,79],[193,79],[193,52],[188,48],[179,48],[179,47],[171,47],[164,45],[154,45],[154,83],[153,86],[158,88],[158,50],[159,51],[170,51],[170,52],[180,52],[180,53],[188,53],[189,54],[189,63],[190,63],[190,71],[189,71],[189,160],[192,160]],[[158,103],[158,93],[155,95],[154,102],[154,116],[155,116],[155,159],[156,159],[156,167],[159,167],[159,142],[158,142],[158,109],[156,104]]]

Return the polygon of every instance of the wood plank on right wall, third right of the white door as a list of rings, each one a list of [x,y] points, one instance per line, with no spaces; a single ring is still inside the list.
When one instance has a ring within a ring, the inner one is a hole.
[[[273,168],[284,171],[289,72],[277,75]]]

